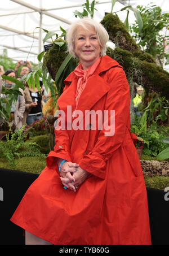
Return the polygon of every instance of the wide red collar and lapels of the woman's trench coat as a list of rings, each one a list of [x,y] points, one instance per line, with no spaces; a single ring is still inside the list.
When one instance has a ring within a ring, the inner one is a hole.
[[[106,83],[106,81],[100,75],[110,68],[117,66],[121,67],[119,66],[118,62],[108,57],[107,55],[101,59],[101,62],[97,67],[94,75],[92,75],[87,81],[85,89],[80,96],[77,110],[81,110],[83,112],[85,110],[90,110],[92,106],[94,106],[95,103],[109,91],[110,85]],[[72,106],[73,112],[75,110],[74,96],[77,88],[77,77],[75,76],[74,72],[70,73],[64,82],[69,87],[61,94],[57,100],[57,104],[59,109],[64,110],[65,112],[67,106]]]

